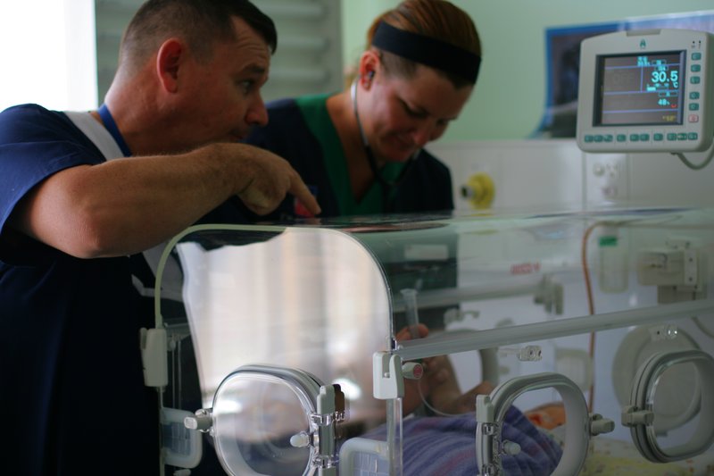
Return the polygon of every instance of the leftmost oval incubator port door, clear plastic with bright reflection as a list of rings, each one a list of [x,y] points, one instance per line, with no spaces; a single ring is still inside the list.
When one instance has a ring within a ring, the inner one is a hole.
[[[338,386],[308,372],[273,365],[244,365],[224,379],[210,410],[216,453],[228,474],[336,474],[336,424],[345,419]],[[207,426],[207,425],[206,425]]]

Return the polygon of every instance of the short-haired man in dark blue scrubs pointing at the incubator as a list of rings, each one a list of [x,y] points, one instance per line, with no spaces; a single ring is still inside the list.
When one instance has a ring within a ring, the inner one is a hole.
[[[241,220],[237,201],[269,213],[290,193],[320,212],[283,159],[237,143],[267,121],[276,44],[247,0],[149,0],[99,111],[0,113],[4,473],[158,473],[141,252]]]

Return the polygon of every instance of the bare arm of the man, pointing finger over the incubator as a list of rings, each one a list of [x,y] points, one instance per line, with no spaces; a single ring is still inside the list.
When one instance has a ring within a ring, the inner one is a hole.
[[[278,155],[214,144],[59,171],[30,190],[10,224],[80,258],[131,255],[174,236],[230,196],[264,214],[287,193],[320,213],[303,180]]]

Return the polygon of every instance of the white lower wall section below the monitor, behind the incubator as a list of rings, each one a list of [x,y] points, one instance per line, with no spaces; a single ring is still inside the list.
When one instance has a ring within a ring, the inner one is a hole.
[[[608,206],[712,206],[714,163],[693,171],[667,153],[585,154],[575,139],[444,141],[428,146],[446,163],[454,205],[473,205],[461,186],[474,174],[494,183],[494,209],[587,210]],[[706,153],[687,153],[695,164]]]

